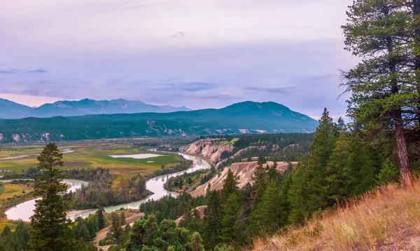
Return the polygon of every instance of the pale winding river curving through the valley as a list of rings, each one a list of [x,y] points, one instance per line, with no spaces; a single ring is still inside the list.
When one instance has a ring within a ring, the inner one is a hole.
[[[170,177],[176,177],[179,175],[183,175],[184,173],[188,172],[195,172],[196,170],[201,170],[201,169],[208,169],[210,168],[210,164],[207,163],[207,161],[204,161],[202,158],[200,157],[196,157],[196,156],[190,156],[188,154],[181,154],[184,158],[193,161],[193,168],[188,168],[187,170],[183,170],[180,172],[174,172],[171,173],[169,175],[160,175],[157,177],[153,177],[151,179],[148,179],[148,181],[146,182],[146,189],[148,189],[149,191],[152,191],[153,194],[151,196],[148,196],[147,198],[144,198],[141,201],[134,201],[132,203],[125,203],[125,204],[120,204],[120,205],[113,205],[110,207],[106,207],[104,208],[104,210],[106,212],[113,212],[115,210],[118,210],[120,208],[130,208],[130,209],[138,209],[140,207],[141,204],[145,203],[146,201],[158,201],[160,198],[162,198],[163,196],[167,196],[169,194],[171,194],[172,196],[178,196],[178,193],[172,192],[172,191],[167,191],[164,188],[164,184],[167,182],[167,180]],[[71,188],[69,189],[69,191],[75,191],[76,189],[80,188],[80,186],[82,184],[87,184],[87,182],[83,182],[81,180],[76,180],[76,179],[64,179],[63,180],[66,183],[71,184]],[[35,209],[35,200],[36,199],[32,199],[30,201],[25,201],[23,203],[20,203],[18,205],[15,205],[15,207],[13,208],[9,208],[6,211],[6,217],[8,219],[22,219],[23,221],[27,221],[29,222],[29,217],[31,217],[31,215],[34,214],[34,209]],[[96,212],[97,209],[93,209],[93,210],[83,210],[83,212],[80,211],[71,211],[69,212],[69,218],[70,219],[75,219],[76,217],[87,217],[90,214]]]

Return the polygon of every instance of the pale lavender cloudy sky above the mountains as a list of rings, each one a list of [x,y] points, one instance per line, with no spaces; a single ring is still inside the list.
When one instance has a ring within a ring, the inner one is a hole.
[[[0,0],[0,97],[346,113],[351,0]]]

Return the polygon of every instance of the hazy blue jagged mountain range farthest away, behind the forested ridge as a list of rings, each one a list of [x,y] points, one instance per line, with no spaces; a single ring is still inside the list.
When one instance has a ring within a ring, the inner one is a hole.
[[[171,107],[146,104],[130,100],[57,101],[40,107],[27,107],[10,100],[0,99],[0,118],[48,118],[53,116],[83,116],[87,114],[134,114],[139,112],[190,111],[187,107]]]

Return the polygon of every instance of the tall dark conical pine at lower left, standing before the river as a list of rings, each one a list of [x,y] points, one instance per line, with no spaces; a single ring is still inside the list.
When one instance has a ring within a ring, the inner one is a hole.
[[[55,166],[62,166],[62,154],[57,145],[49,143],[38,156],[41,176],[35,178],[37,196],[34,215],[31,217],[29,245],[34,250],[73,250],[76,238],[70,229],[66,212],[70,210],[67,186],[60,183],[64,175]]]

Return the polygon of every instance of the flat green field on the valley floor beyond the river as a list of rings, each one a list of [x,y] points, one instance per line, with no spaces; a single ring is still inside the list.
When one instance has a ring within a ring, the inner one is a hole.
[[[9,147],[1,149],[0,158],[10,156],[26,156],[12,160],[0,160],[0,170],[14,170],[21,172],[30,167],[36,167],[38,161],[36,155],[42,150],[43,145],[31,145],[27,147]],[[118,180],[123,181],[127,176],[134,173],[148,174],[160,170],[162,165],[167,167],[179,163],[179,156],[167,154],[153,158],[112,158],[109,155],[129,154],[151,154],[144,149],[137,149],[130,144],[82,144],[59,147],[60,149],[71,149],[71,154],[64,154],[63,168],[109,168],[110,172],[119,175]],[[148,161],[154,161],[148,163]],[[116,179],[117,180],[117,179]]]

